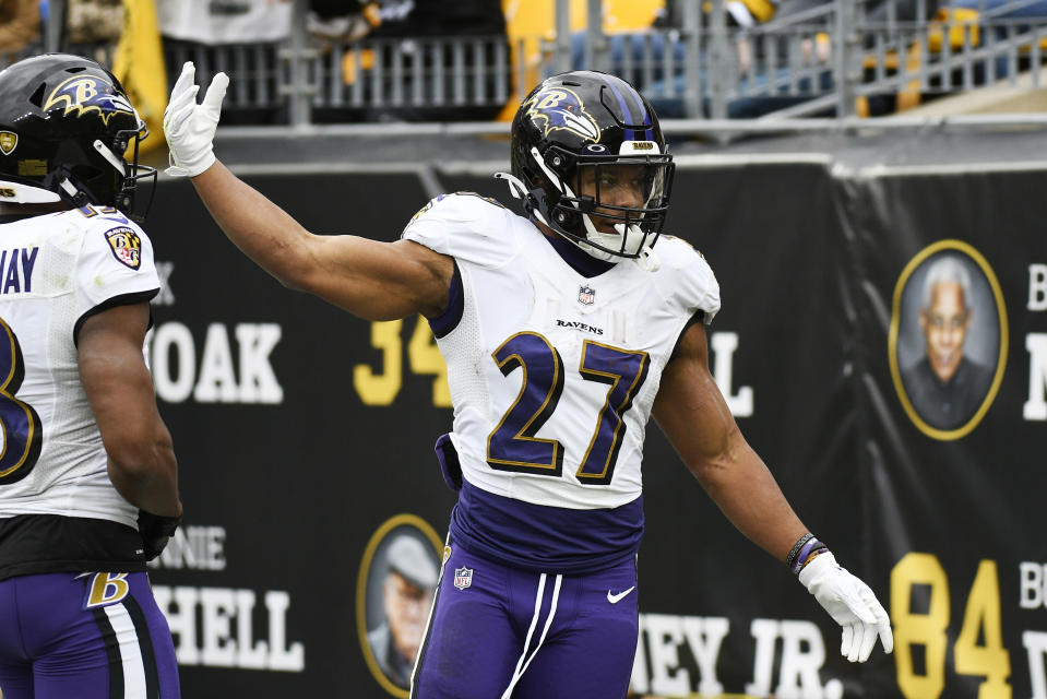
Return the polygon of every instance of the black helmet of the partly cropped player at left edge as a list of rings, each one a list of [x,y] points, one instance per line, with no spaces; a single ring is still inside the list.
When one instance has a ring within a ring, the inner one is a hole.
[[[45,54],[0,72],[0,201],[116,206],[135,220],[148,135],[120,82],[93,60]],[[133,144],[132,161],[123,158]]]

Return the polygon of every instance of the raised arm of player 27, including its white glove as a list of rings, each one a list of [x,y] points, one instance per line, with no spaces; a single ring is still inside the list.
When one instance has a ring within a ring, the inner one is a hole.
[[[215,159],[212,140],[228,79],[215,75],[201,104],[195,71],[186,63],[164,116],[168,173],[192,178],[226,236],[289,288],[316,294],[368,320],[445,307],[454,263],[408,240],[380,242],[352,235],[313,235]]]

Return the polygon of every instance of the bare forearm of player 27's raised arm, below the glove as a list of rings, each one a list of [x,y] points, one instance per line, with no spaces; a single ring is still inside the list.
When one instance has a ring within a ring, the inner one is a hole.
[[[312,237],[287,212],[243,182],[221,162],[192,178],[193,187],[226,237],[259,266],[292,288],[302,288]]]

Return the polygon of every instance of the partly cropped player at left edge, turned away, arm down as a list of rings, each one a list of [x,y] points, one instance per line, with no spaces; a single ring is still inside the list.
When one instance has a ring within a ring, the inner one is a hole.
[[[181,516],[130,218],[145,125],[64,54],[0,72],[0,695],[179,696],[146,561]],[[132,163],[123,159],[133,144]]]

